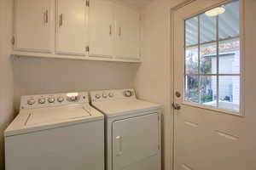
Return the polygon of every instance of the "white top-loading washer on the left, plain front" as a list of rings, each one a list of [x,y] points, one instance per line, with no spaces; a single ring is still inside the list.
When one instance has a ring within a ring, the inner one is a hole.
[[[104,116],[84,92],[22,96],[4,137],[6,170],[104,170]]]

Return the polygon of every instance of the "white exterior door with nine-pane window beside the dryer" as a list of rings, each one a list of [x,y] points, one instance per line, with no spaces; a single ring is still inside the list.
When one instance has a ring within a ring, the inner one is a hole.
[[[248,72],[255,72],[255,33],[248,28],[256,3],[220,3],[197,0],[172,15],[174,170],[256,169],[255,79]],[[204,13],[214,6],[220,8]]]

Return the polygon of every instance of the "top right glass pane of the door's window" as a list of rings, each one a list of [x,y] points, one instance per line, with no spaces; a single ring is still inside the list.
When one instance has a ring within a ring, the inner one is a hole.
[[[239,36],[239,1],[224,5],[224,14],[218,15],[218,37],[220,39]]]

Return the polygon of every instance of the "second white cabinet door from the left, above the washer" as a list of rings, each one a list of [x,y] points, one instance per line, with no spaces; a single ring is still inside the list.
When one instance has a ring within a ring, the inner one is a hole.
[[[56,54],[84,55],[86,1],[57,0]]]

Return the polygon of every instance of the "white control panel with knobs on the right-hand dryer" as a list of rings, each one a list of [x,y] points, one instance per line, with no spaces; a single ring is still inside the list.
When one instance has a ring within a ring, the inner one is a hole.
[[[118,99],[136,99],[134,89],[102,90],[90,92],[91,102],[118,100]]]

